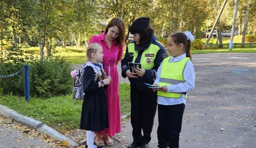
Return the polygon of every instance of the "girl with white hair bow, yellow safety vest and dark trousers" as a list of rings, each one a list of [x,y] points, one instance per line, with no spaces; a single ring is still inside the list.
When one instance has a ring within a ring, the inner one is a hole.
[[[157,70],[153,88],[157,91],[159,148],[178,148],[179,133],[186,105],[186,92],[195,86],[195,70],[191,62],[190,43],[194,36],[190,32],[173,33],[169,36],[168,51]]]

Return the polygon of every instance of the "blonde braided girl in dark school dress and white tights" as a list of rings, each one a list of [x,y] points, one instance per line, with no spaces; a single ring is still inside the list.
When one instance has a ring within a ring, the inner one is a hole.
[[[88,46],[86,63],[82,73],[82,91],[85,93],[82,104],[80,129],[86,130],[85,148],[101,148],[94,145],[94,133],[109,128],[107,101],[104,89],[112,81],[105,77],[102,59],[102,47],[97,43]],[[105,79],[104,79],[105,78]]]

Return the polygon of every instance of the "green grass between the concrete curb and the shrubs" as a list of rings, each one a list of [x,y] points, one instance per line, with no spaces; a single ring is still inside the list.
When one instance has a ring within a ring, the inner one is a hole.
[[[130,86],[126,83],[119,86],[121,112],[130,112]],[[0,95],[0,104],[23,115],[42,121],[53,129],[65,133],[77,129],[80,125],[82,101],[73,100],[72,95],[52,97],[49,99]]]

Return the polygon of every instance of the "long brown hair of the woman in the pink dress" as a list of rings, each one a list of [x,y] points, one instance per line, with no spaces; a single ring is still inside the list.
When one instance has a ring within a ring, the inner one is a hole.
[[[113,18],[107,25],[105,33],[108,33],[109,28],[113,27],[113,26],[117,26],[119,29],[119,36],[117,37],[117,43],[119,45],[122,45],[125,39],[125,25],[124,25],[124,21],[121,17],[115,17]]]

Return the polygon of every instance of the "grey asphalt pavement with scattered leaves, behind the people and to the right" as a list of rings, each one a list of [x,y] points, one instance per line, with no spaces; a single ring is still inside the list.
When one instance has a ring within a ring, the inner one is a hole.
[[[188,92],[180,147],[256,148],[256,54],[192,56],[196,86]],[[157,115],[150,148],[157,148]],[[131,133],[130,122],[123,123],[122,146],[132,142]]]

